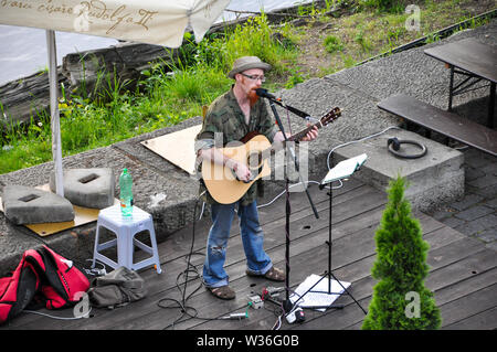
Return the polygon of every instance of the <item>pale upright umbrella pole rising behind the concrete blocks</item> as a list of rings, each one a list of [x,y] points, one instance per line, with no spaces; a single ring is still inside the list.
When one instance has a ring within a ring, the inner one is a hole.
[[[60,196],[64,196],[64,180],[62,174],[61,122],[59,115],[57,52],[55,47],[55,32],[51,30],[46,30],[45,32],[46,32],[46,47],[49,53],[50,116],[52,128],[52,157],[55,169],[55,190]]]

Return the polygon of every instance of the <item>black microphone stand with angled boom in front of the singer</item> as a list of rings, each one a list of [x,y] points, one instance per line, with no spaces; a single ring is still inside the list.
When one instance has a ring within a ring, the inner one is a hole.
[[[285,134],[285,129],[283,127],[282,120],[279,119],[279,115],[276,110],[276,106],[275,103],[277,103],[274,98],[271,98],[268,96],[265,96],[265,98],[267,98],[269,100],[269,106],[271,109],[273,110],[273,115],[276,119],[276,122],[279,127],[279,130],[283,134],[283,137],[285,138],[285,147],[288,148],[288,150],[290,151],[292,158],[294,160],[294,164],[295,164],[295,170],[298,173],[298,178],[302,182],[302,177],[300,177],[300,167],[297,160],[297,157],[295,154],[294,149],[289,146],[288,143],[288,139],[286,138],[286,134]],[[285,289],[286,289],[286,297],[285,300],[283,301],[283,308],[285,310],[286,313],[289,313],[292,311],[293,305],[289,300],[289,271],[290,271],[290,267],[289,267],[289,216],[292,213],[292,209],[290,209],[290,203],[289,203],[289,178],[288,178],[288,173],[285,172],[285,181],[286,181],[286,207],[285,207],[285,232],[286,232],[286,243],[285,243],[285,260],[286,260],[286,266],[285,266],[285,270],[286,270],[286,278],[285,278]],[[310,199],[310,194],[309,191],[307,190],[307,188],[305,188],[307,198],[309,200],[310,206],[313,209],[314,215],[316,216],[316,218],[319,218],[319,215],[317,213],[316,206],[313,203],[313,200]]]

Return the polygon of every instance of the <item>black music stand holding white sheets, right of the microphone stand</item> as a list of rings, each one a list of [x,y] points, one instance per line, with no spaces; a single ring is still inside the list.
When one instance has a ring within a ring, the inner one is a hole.
[[[325,188],[326,184],[329,184],[329,226],[328,226],[328,241],[326,242],[328,245],[328,270],[325,271],[325,275],[319,278],[315,284],[313,284],[310,286],[310,288],[307,289],[307,291],[305,291],[303,295],[299,295],[299,297],[297,298],[297,300],[293,303],[294,307],[297,305],[297,302],[299,300],[302,300],[306,295],[308,294],[320,294],[320,295],[326,295],[327,298],[330,299],[331,303],[325,305],[325,306],[320,306],[320,305],[316,305],[316,306],[300,306],[302,308],[311,308],[311,309],[330,309],[330,308],[343,308],[343,306],[332,306],[335,299],[332,299],[332,297],[330,297],[331,295],[334,296],[340,296],[345,292],[347,292],[348,296],[350,296],[352,298],[352,300],[359,306],[359,308],[364,312],[364,314],[367,314],[367,311],[362,308],[362,306],[356,300],[356,298],[348,291],[347,287],[345,287],[342,285],[342,282],[340,280],[338,280],[335,275],[332,274],[331,270],[331,215],[332,215],[332,186],[331,183],[334,181],[339,181],[342,180],[345,178],[348,178],[350,175],[353,174],[353,172],[356,172],[357,170],[359,170],[359,168],[364,163],[366,159],[368,158],[368,156],[366,153],[357,156],[355,158],[350,158],[347,160],[343,160],[341,162],[339,162],[335,168],[331,168],[328,173],[326,174],[326,177],[322,179],[322,181],[319,184],[319,189],[322,190]],[[324,279],[328,279],[328,289],[322,291],[322,290],[313,290],[320,281],[322,281]],[[337,281],[340,287],[342,288],[343,291],[341,292],[332,292],[331,291],[331,279],[334,279],[335,281]],[[297,295],[298,296],[298,295]],[[338,298],[338,297],[337,297]]]

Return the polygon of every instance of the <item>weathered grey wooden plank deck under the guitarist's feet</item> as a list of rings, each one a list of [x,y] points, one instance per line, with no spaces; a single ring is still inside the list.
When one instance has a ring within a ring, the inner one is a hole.
[[[314,216],[305,193],[292,193],[290,216],[290,286],[296,288],[310,274],[321,275],[327,269],[328,249],[328,195],[316,185],[309,188],[319,212]],[[334,191],[332,207],[332,269],[336,278],[351,282],[350,292],[367,310],[376,280],[371,266],[376,258],[374,232],[381,220],[387,196],[381,192],[350,180]],[[264,202],[261,202],[264,203]],[[285,196],[269,206],[260,209],[265,232],[265,248],[277,267],[285,268]],[[435,292],[441,308],[443,329],[496,329],[497,328],[497,255],[484,244],[446,227],[434,218],[417,213],[424,238],[430,243],[427,263],[431,267],[426,286]],[[203,252],[210,222],[197,223],[191,256],[192,265],[201,273]],[[263,287],[283,287],[245,275],[245,257],[240,241],[237,222],[232,228],[225,268],[236,299],[223,301],[210,295],[200,284],[200,278],[189,273],[187,288],[187,312],[189,318],[168,299],[181,300],[177,287],[178,276],[186,270],[186,257],[190,252],[192,228],[184,228],[159,245],[162,274],[152,269],[141,270],[148,287],[148,296],[137,302],[114,310],[93,309],[92,318],[56,320],[39,314],[22,313],[1,329],[175,329],[175,330],[269,330],[277,321],[275,305],[265,303],[266,309],[250,309],[248,319],[214,320],[232,312],[245,312],[247,296],[261,292]],[[179,278],[183,282],[183,277]],[[182,288],[183,285],[181,284]],[[284,294],[282,294],[284,295]],[[172,308],[160,308],[170,306]],[[337,303],[343,309],[318,312],[306,310],[306,321],[288,324],[285,319],[282,330],[309,329],[360,329],[364,313],[353,300],[342,295]],[[176,308],[175,308],[176,307]],[[72,310],[46,311],[51,314],[71,317]]]

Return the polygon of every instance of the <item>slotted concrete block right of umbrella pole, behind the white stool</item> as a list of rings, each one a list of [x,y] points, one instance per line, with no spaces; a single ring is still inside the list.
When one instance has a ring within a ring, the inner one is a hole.
[[[64,198],[74,205],[105,209],[114,204],[114,174],[109,168],[64,170]],[[55,192],[55,174],[50,174]]]

